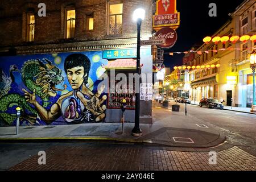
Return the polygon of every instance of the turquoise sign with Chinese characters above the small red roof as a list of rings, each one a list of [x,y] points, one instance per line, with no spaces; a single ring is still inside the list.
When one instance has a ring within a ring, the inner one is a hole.
[[[151,49],[141,49],[141,56],[151,55]],[[118,49],[103,52],[103,59],[136,58],[137,49]]]

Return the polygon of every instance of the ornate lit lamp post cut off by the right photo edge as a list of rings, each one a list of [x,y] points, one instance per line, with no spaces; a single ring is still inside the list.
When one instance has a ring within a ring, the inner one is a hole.
[[[256,53],[255,49],[250,53],[250,68],[253,70],[253,104],[251,105],[251,112],[256,113],[255,101],[255,68],[256,68]]]

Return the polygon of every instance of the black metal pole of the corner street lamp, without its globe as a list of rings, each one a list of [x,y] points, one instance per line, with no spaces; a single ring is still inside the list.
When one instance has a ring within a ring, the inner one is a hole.
[[[141,75],[141,23],[142,19],[139,18],[137,20],[137,69],[136,72],[138,75]],[[134,129],[131,131],[134,137],[139,137],[142,135],[142,130],[139,128],[139,102],[140,102],[140,92],[141,92],[141,79],[139,79],[139,90],[135,90],[137,93],[135,94],[135,125]]]

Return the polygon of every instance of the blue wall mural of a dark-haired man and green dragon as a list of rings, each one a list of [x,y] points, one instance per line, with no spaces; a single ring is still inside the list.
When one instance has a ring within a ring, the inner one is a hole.
[[[0,126],[105,120],[102,51],[0,57]]]

